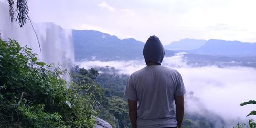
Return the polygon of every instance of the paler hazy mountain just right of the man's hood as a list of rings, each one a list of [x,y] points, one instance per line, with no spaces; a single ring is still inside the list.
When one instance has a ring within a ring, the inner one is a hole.
[[[198,39],[182,39],[180,41],[172,42],[169,45],[165,45],[164,48],[168,50],[193,50],[198,49],[205,44],[207,40]]]

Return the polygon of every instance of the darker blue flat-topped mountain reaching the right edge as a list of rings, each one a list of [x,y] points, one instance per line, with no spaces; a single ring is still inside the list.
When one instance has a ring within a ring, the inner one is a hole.
[[[188,52],[231,57],[256,56],[256,43],[210,39],[200,48]]]

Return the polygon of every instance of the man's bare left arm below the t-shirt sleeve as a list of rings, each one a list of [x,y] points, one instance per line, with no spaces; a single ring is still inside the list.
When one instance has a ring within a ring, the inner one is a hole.
[[[137,100],[128,99],[129,117],[133,128],[137,127]]]

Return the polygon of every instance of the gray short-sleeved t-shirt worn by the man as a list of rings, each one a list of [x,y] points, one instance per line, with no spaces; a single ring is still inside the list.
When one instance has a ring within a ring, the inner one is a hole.
[[[175,127],[177,121],[174,96],[185,93],[178,71],[152,65],[131,74],[124,96],[138,101],[138,127]]]

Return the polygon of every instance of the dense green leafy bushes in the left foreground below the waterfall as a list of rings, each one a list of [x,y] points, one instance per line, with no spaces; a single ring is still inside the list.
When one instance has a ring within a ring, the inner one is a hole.
[[[76,83],[67,89],[62,72],[15,40],[0,40],[0,125],[93,127],[92,94],[81,96]]]

